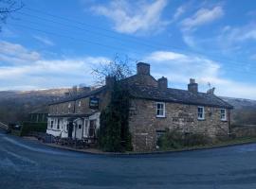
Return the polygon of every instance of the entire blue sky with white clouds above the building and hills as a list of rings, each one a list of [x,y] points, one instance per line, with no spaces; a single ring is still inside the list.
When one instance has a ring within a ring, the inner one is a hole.
[[[23,0],[2,24],[0,91],[94,85],[116,56],[156,79],[256,99],[254,0]]]

